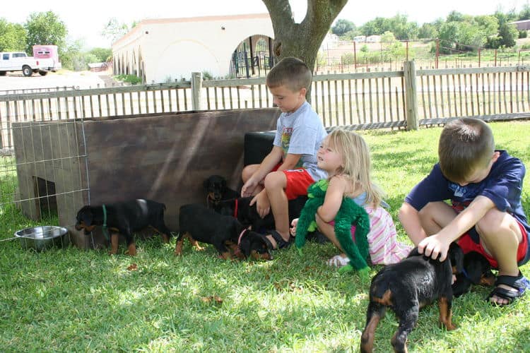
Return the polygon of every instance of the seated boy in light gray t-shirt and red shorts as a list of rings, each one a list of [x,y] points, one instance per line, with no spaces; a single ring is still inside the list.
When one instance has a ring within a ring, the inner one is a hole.
[[[282,114],[276,124],[273,148],[261,164],[243,169],[241,196],[254,196],[261,217],[273,213],[276,229],[267,234],[275,249],[290,241],[288,200],[307,194],[307,187],[327,177],[317,167],[317,150],[326,137],[319,116],[305,100],[312,74],[300,59],[285,58],[266,78],[273,102]]]

